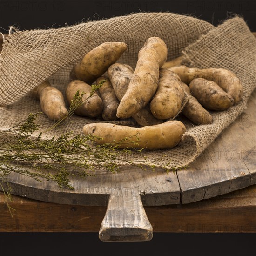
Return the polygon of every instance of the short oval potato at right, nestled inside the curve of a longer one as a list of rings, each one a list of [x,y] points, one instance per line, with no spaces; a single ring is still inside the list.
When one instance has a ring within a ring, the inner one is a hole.
[[[234,99],[224,92],[215,82],[195,78],[189,84],[191,94],[209,110],[223,111],[230,108]]]

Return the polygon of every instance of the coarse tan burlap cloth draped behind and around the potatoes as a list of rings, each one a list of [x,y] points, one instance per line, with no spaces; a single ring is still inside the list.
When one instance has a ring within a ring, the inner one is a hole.
[[[243,82],[243,100],[223,112],[212,112],[214,122],[194,126],[180,118],[187,132],[182,142],[170,150],[144,151],[149,162],[182,167],[192,162],[246,108],[256,85],[256,42],[243,18],[235,16],[218,27],[190,16],[173,13],[137,13],[108,20],[81,23],[59,29],[18,31],[4,42],[0,55],[0,130],[12,127],[29,113],[40,111],[40,103],[29,91],[49,78],[65,91],[69,70],[84,54],[107,41],[128,44],[118,62],[135,67],[144,42],[158,36],[168,46],[168,60],[185,54],[191,67],[222,67],[233,71]],[[53,125],[40,115],[41,130]],[[64,125],[45,135],[74,131],[82,134],[89,122],[102,121],[73,116]],[[134,125],[132,120],[116,122]],[[140,160],[141,154],[122,155]],[[120,161],[119,164],[126,162]]]

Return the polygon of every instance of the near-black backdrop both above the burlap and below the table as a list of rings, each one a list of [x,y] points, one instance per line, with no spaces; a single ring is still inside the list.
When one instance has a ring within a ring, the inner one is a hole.
[[[256,1],[1,0],[0,32],[73,25],[132,12],[191,14],[217,25],[232,13],[256,31]],[[154,233],[150,242],[103,243],[97,233],[1,233],[0,256],[254,256],[256,234]]]

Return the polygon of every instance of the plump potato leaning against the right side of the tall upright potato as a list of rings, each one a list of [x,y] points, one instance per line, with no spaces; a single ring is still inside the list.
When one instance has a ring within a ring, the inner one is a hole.
[[[174,117],[182,106],[184,96],[179,76],[166,68],[160,68],[158,88],[150,102],[152,114],[158,119]]]

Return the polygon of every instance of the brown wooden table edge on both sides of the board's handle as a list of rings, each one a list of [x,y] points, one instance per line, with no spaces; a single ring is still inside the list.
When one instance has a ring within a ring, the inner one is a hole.
[[[0,192],[0,232],[99,232],[106,207],[47,203]],[[145,207],[154,232],[256,232],[256,185],[189,204]]]

